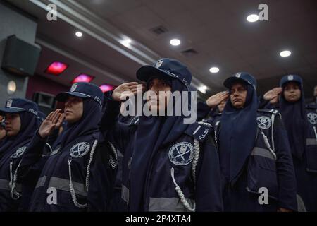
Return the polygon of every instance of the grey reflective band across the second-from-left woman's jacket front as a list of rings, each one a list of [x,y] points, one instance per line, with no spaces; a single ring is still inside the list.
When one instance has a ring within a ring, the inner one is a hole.
[[[85,189],[85,185],[78,182],[73,182],[75,194],[80,196],[87,196],[87,190]],[[58,190],[69,191],[69,179],[62,179],[58,177],[51,177],[49,180],[49,187],[54,187]]]

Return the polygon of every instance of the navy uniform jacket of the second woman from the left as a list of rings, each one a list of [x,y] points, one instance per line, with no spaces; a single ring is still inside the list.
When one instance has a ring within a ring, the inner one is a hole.
[[[52,150],[35,186],[30,211],[108,210],[116,175],[116,153],[108,142],[97,140],[100,138],[77,138],[63,150]],[[45,143],[46,139],[36,133],[19,168],[22,177],[43,160]]]

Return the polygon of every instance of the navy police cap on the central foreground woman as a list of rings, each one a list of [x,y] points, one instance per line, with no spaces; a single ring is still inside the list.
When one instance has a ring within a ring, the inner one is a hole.
[[[187,66],[178,60],[169,58],[159,59],[153,66],[146,65],[137,70],[137,78],[140,81],[147,82],[153,76],[178,79],[187,88],[192,82],[192,73],[187,69]]]

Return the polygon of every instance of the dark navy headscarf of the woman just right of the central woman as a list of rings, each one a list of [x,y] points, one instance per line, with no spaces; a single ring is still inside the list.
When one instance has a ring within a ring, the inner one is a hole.
[[[240,175],[256,139],[258,98],[255,84],[245,85],[247,98],[244,107],[236,109],[228,100],[220,121],[220,168],[230,182]]]

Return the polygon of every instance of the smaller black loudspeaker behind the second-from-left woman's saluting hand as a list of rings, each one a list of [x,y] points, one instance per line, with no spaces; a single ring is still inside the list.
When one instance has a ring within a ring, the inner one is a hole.
[[[39,105],[39,110],[46,114],[46,116],[56,107],[55,96],[49,93],[34,93],[33,101]]]

